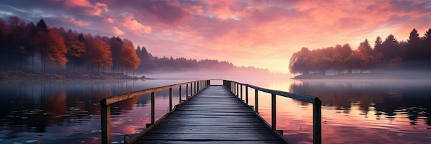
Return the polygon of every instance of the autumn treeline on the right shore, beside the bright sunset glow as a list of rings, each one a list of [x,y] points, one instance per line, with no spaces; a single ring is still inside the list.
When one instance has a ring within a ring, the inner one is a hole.
[[[350,45],[336,45],[309,50],[303,47],[293,53],[289,69],[293,74],[324,73],[337,71],[366,71],[369,69],[429,69],[431,64],[431,28],[419,37],[417,29],[410,32],[409,39],[399,42],[390,34],[384,41],[378,36],[374,49],[365,39],[352,50]]]

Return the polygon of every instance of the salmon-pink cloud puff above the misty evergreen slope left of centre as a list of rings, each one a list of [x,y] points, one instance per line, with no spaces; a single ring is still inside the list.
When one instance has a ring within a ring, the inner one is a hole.
[[[123,21],[123,27],[125,27],[126,29],[134,30],[139,33],[151,33],[151,27],[145,26],[136,21],[133,13],[129,13],[127,16],[125,16],[125,19]]]

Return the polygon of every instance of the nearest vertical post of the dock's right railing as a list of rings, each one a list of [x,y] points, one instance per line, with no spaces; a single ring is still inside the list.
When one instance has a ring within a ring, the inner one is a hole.
[[[322,101],[317,97],[313,104],[313,143],[322,143]]]

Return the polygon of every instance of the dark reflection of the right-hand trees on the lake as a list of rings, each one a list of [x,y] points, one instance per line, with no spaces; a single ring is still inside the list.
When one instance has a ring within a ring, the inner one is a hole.
[[[427,86],[428,85],[428,86]],[[337,110],[348,112],[352,105],[367,117],[370,108],[378,119],[395,119],[395,115],[406,115],[411,124],[424,117],[426,124],[431,125],[431,91],[429,84],[410,84],[409,82],[347,82],[304,80],[291,84],[290,91],[303,95],[313,95],[322,100],[323,106],[335,106]],[[417,93],[414,95],[413,93]],[[428,95],[425,95],[428,94]],[[386,115],[382,117],[381,115]]]

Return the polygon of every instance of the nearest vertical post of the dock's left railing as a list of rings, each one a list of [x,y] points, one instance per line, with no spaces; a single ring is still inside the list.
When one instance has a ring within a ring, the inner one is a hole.
[[[111,143],[111,106],[101,102],[102,143]]]

